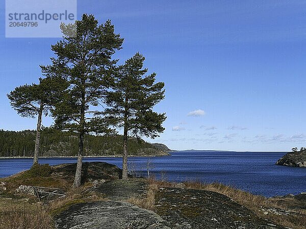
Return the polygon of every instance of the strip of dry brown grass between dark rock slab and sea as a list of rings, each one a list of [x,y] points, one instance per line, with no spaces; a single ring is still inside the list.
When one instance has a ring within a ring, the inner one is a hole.
[[[278,204],[272,198],[266,198],[259,195],[253,195],[249,192],[245,192],[231,186],[223,185],[217,182],[213,182],[210,184],[205,184],[199,181],[185,181],[183,183],[175,183],[175,182],[167,182],[167,181],[160,181],[155,179],[149,180],[150,185],[154,185],[158,188],[165,187],[165,188],[187,188],[187,189],[196,189],[196,190],[206,190],[221,193],[226,195],[236,201],[237,203],[245,206],[246,208],[252,210],[260,217],[264,217],[269,219],[275,223],[278,223],[283,226],[291,227],[294,229],[306,229],[306,211],[305,210],[295,210],[294,212],[297,215],[275,215],[275,214],[268,214],[264,215],[262,208],[278,208],[278,209],[286,209],[284,204]]]

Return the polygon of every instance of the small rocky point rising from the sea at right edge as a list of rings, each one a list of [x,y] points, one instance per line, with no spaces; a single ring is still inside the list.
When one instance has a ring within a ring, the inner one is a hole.
[[[278,159],[276,165],[306,167],[306,151],[289,152]]]

